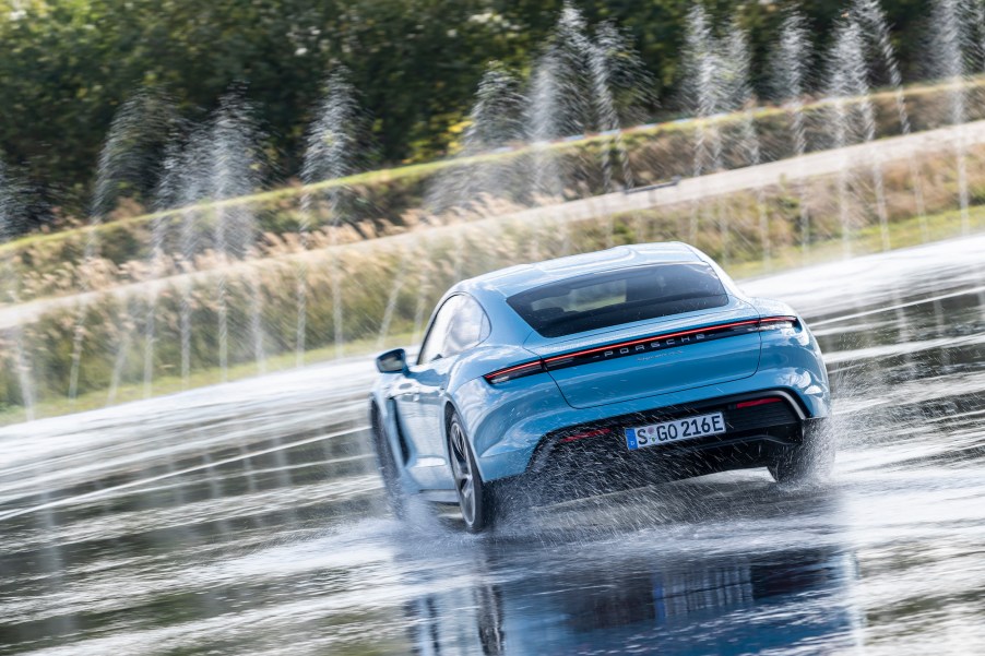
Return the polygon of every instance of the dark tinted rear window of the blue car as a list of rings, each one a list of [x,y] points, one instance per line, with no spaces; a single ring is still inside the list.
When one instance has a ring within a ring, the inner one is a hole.
[[[507,299],[544,337],[719,308],[725,287],[703,262],[637,266],[544,285]]]

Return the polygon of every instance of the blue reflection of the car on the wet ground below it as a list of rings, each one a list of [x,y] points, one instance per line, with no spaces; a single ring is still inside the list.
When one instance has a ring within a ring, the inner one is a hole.
[[[836,548],[676,562],[617,553],[507,581],[500,557],[486,556],[472,586],[406,604],[414,654],[834,652],[859,640],[857,566]]]

